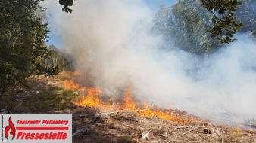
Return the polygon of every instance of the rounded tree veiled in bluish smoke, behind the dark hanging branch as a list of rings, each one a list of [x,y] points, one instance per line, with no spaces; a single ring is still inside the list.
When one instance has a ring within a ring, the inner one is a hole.
[[[209,53],[220,43],[205,33],[211,27],[211,14],[201,7],[200,0],[180,0],[173,6],[161,6],[154,17],[154,29],[163,35],[170,47],[189,53]]]

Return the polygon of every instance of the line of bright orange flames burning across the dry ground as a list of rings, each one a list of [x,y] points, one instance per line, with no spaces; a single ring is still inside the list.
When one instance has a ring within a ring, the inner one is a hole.
[[[69,89],[69,90],[78,90],[80,91],[80,95],[83,97],[77,101],[74,102],[76,105],[80,106],[87,106],[87,107],[92,107],[92,108],[100,108],[101,110],[107,110],[109,111],[112,108],[111,104],[108,104],[107,102],[101,101],[99,98],[101,95],[101,90],[99,87],[93,88],[86,88],[83,86],[80,86],[79,84],[74,84],[72,80],[65,80],[62,82],[64,84],[64,88]],[[111,102],[111,100],[109,101]],[[190,122],[200,122],[198,121],[195,117],[182,117],[182,115],[172,112],[172,111],[162,111],[160,109],[151,109],[148,104],[145,104],[142,106],[142,108],[136,107],[136,102],[133,101],[132,99],[132,93],[131,93],[131,87],[126,88],[126,96],[124,96],[124,102],[125,104],[119,104],[115,108],[115,110],[145,110],[145,111],[139,111],[137,112],[141,116],[145,117],[158,117],[163,120],[169,120],[173,122],[178,122],[178,123],[183,123],[183,124],[188,124]],[[139,105],[137,105],[139,106]]]

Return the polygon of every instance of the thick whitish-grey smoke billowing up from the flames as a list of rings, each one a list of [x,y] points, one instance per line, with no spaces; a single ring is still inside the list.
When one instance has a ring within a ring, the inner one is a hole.
[[[202,59],[160,50],[161,37],[151,35],[153,15],[143,1],[78,0],[72,14],[49,2],[50,26],[76,59],[76,70],[92,73],[95,85],[132,86],[137,99],[201,117],[256,117],[256,47],[248,35]]]

